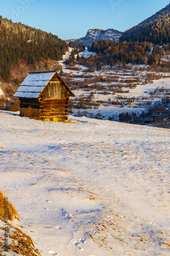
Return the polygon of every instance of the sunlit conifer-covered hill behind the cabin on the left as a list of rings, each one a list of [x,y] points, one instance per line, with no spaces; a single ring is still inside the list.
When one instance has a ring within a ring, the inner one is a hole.
[[[20,59],[35,68],[37,58],[60,60],[66,50],[65,41],[56,35],[0,16],[0,65],[4,80],[10,78],[11,65],[18,65]]]

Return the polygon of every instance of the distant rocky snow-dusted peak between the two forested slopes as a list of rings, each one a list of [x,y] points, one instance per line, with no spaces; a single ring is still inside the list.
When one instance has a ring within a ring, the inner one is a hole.
[[[87,31],[87,34],[85,37],[81,37],[80,39],[70,39],[70,40],[65,40],[67,44],[69,44],[69,41],[74,42],[75,45],[81,44],[86,47],[91,47],[92,43],[98,40],[112,40],[112,41],[118,41],[119,38],[122,36],[122,32],[119,32],[114,29],[89,29]]]

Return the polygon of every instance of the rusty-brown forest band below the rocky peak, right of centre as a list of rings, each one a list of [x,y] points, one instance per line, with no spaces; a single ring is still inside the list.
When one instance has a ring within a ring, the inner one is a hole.
[[[100,61],[102,65],[122,65],[126,68],[128,63],[137,65],[153,65],[155,63],[160,64],[161,56],[167,52],[169,53],[170,44],[165,44],[160,47],[154,45],[152,42],[138,42],[138,41],[106,41],[100,40],[93,42],[89,51],[95,52],[95,56],[91,56],[89,59],[80,59],[80,63],[93,68]]]

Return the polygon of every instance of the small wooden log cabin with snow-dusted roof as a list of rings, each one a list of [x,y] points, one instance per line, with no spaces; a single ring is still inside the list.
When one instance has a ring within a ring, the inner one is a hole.
[[[20,100],[20,116],[41,120],[67,120],[68,99],[75,97],[57,71],[30,72],[14,94]]]

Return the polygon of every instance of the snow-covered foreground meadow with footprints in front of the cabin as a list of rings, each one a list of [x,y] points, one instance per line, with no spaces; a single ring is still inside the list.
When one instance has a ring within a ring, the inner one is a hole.
[[[11,114],[1,189],[42,256],[169,255],[169,130]]]

